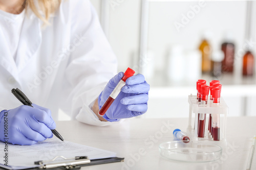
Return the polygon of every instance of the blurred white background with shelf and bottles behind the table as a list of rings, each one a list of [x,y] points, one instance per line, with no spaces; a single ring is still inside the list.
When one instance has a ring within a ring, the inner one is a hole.
[[[151,85],[145,118],[188,117],[198,79],[220,80],[228,116],[256,115],[255,1],[91,0],[118,59]]]

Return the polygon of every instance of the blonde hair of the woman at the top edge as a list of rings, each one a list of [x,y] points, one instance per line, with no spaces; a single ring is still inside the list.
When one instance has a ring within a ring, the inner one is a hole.
[[[37,0],[38,7],[35,5],[34,0],[26,0],[25,7],[31,8],[35,15],[44,21],[45,24],[49,23],[48,19],[51,13],[54,13],[60,5],[61,0]],[[43,15],[39,13],[39,10],[42,11]]]

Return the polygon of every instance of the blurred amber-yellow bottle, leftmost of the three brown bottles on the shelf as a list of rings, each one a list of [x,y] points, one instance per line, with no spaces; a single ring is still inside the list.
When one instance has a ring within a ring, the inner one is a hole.
[[[200,44],[199,50],[202,53],[202,72],[203,73],[210,72],[211,46],[206,39],[204,39]]]

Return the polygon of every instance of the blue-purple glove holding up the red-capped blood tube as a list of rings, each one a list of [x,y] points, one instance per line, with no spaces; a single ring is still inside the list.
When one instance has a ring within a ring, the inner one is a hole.
[[[109,98],[118,82],[123,77],[123,72],[119,72],[113,77],[100,93],[98,98],[99,109]],[[148,91],[150,85],[147,84],[143,75],[138,74],[128,78],[110,108],[103,115],[109,122],[116,122],[121,118],[139,116],[146,112]]]

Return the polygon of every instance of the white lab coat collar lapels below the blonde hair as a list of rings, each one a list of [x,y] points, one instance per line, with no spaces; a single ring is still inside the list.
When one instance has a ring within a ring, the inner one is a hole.
[[[42,22],[35,16],[32,10],[27,9],[24,18],[22,31],[20,33],[18,48],[16,52],[16,61],[13,56],[7,50],[7,43],[3,40],[0,42],[0,65],[4,67],[13,77],[16,77],[27,64],[28,60],[35,55],[41,44],[41,25]],[[3,32],[0,28],[0,37],[3,36]]]

